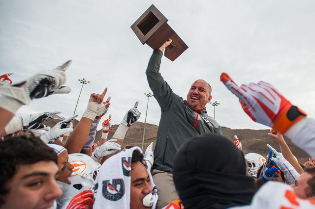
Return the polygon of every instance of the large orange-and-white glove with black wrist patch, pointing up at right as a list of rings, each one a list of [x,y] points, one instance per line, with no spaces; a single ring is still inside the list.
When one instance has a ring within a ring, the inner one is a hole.
[[[222,73],[220,78],[240,99],[244,111],[253,121],[272,127],[281,134],[306,116],[305,112],[292,105],[269,83],[260,81],[238,86],[226,73]]]

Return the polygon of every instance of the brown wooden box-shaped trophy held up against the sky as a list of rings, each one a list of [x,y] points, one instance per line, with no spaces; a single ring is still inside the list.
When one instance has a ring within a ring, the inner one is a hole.
[[[158,50],[169,38],[172,39],[171,45],[165,48],[164,56],[174,61],[188,49],[188,46],[166,23],[167,21],[166,17],[152,4],[134,22],[131,29],[143,45],[147,44],[153,50]]]

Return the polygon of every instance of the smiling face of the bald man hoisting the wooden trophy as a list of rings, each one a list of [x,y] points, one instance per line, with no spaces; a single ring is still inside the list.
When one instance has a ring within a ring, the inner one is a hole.
[[[211,101],[209,84],[204,80],[196,80],[192,83],[187,94],[187,103],[192,110],[203,109]]]

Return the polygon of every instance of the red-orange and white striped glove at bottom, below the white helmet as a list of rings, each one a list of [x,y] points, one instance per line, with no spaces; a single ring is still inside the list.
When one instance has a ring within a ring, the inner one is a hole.
[[[72,197],[67,209],[93,209],[93,191],[84,190]]]

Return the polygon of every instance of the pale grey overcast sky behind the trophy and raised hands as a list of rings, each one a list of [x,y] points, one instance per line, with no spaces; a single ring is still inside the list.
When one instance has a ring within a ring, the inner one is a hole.
[[[194,80],[207,80],[218,101],[216,120],[231,129],[267,129],[254,123],[220,81],[272,83],[291,103],[315,116],[314,0],[0,0],[0,74],[19,82],[72,59],[66,71],[71,93],[32,101],[19,112],[62,111],[81,118],[91,93],[108,87],[108,113],[119,124],[139,101],[145,121],[149,88],[145,70],[153,50],[130,26],[154,4],[189,46],[174,62],[163,56],[160,73],[186,99]],[[207,104],[208,114],[214,107]],[[106,116],[104,116],[106,119]],[[149,100],[147,123],[160,109]],[[99,126],[101,129],[101,125]]]

